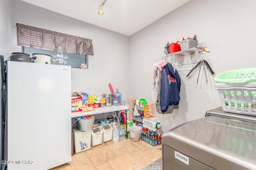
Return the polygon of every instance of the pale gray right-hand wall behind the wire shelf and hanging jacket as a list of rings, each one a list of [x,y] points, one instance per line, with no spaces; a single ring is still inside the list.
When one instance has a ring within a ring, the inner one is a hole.
[[[167,41],[198,36],[209,45],[207,54],[216,74],[255,67],[256,1],[191,0],[130,37],[130,92],[135,99],[149,100],[152,66],[164,55]],[[162,122],[164,130],[204,117],[209,109],[221,106],[214,80],[186,79],[190,68],[180,69],[182,79],[180,114]],[[197,74],[196,74],[197,75]],[[202,75],[202,72],[201,72]]]

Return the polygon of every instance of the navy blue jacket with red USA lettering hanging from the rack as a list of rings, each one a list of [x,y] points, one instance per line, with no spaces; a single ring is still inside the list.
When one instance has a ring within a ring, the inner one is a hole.
[[[162,111],[166,111],[172,105],[178,105],[180,102],[180,76],[178,71],[167,63],[163,68],[160,107]]]

